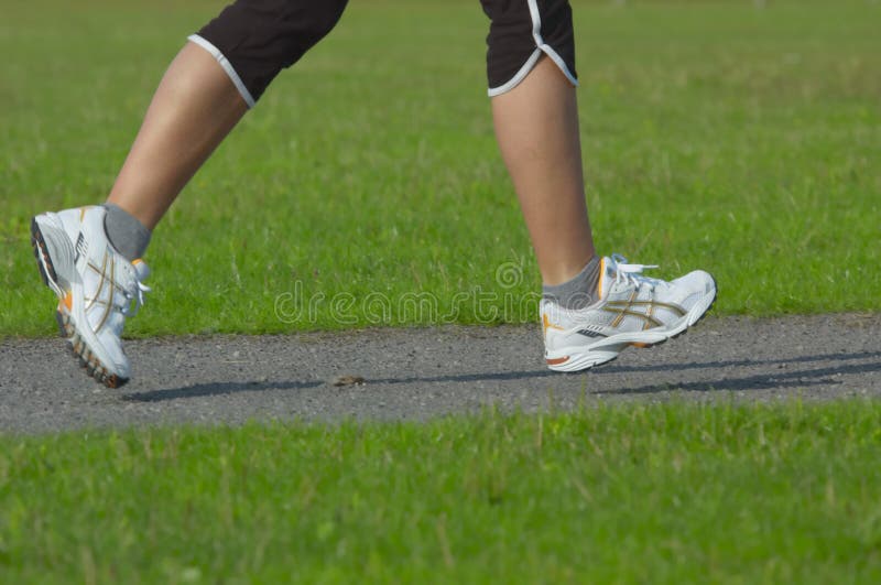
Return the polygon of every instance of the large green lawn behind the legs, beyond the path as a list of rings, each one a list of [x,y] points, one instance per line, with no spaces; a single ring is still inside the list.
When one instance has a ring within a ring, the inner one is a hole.
[[[720,314],[881,308],[881,4],[576,4],[599,250],[662,277],[713,271]],[[30,216],[102,201],[164,67],[218,8],[4,6],[0,335],[53,333]],[[128,332],[533,319],[486,28],[476,0],[352,2],[156,230],[155,292]],[[521,277],[503,288],[511,263]],[[325,300],[279,318],[293,292]],[[428,308],[401,310],[420,292]]]

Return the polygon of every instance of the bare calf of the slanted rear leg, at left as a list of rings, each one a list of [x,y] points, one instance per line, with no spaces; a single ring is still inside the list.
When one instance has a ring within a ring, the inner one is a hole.
[[[153,229],[247,110],[217,61],[188,43],[165,72],[107,202]]]

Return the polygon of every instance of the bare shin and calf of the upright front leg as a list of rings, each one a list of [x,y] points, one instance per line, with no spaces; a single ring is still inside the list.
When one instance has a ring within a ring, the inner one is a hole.
[[[565,282],[595,253],[575,88],[543,57],[520,85],[492,98],[492,117],[542,280]]]

